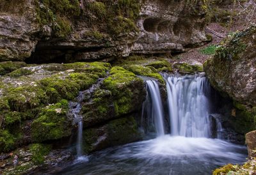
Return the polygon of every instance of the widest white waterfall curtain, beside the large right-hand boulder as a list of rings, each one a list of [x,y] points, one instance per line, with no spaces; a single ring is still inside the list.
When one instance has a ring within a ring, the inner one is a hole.
[[[165,77],[171,135],[211,137],[207,79],[200,75]]]

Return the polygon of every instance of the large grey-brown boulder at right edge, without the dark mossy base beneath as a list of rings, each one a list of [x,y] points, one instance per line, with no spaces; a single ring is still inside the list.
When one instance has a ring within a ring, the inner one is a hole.
[[[234,33],[204,64],[212,86],[233,100],[256,105],[256,26]]]

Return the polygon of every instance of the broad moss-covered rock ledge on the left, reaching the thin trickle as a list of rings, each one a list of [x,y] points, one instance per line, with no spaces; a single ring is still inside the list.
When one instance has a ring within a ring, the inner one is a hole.
[[[68,100],[105,77],[109,63],[31,65],[0,77],[0,149],[71,135]]]

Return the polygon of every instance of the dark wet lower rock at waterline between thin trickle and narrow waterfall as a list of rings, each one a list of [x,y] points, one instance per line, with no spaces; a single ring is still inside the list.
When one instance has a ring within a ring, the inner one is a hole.
[[[99,149],[138,141],[141,133],[134,116],[115,119],[105,125],[84,130],[84,152],[90,153]]]

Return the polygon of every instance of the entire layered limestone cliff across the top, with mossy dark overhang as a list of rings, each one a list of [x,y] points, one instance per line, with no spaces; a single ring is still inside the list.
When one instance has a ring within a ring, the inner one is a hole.
[[[189,8],[186,1],[84,0],[80,8],[74,0],[65,8],[62,1],[0,2],[0,61],[109,61],[182,52],[206,40],[200,3]]]

